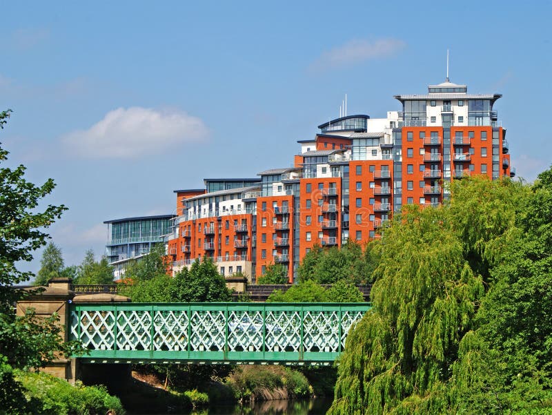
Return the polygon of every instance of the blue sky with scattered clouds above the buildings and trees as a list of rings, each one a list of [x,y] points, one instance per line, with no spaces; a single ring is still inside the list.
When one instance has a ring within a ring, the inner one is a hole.
[[[552,160],[552,6],[506,4],[12,1],[0,141],[30,180],[57,183],[46,202],[69,210],[50,233],[77,264],[103,253],[104,220],[172,213],[172,191],[204,177],[289,166],[345,93],[349,114],[400,109],[393,95],[444,81],[449,48],[451,81],[504,95],[512,165],[531,181]]]

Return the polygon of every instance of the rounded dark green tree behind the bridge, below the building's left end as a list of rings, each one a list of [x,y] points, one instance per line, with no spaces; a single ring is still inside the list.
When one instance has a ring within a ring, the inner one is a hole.
[[[230,301],[232,296],[224,277],[210,259],[192,264],[176,273],[170,287],[170,298],[181,302]]]

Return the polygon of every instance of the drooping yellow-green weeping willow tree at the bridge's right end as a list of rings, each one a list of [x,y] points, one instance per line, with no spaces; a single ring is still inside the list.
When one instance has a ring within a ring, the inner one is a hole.
[[[329,414],[455,412],[447,388],[460,342],[515,238],[524,189],[473,179],[451,192],[437,209],[405,206],[373,242],[373,309],[348,334]]]

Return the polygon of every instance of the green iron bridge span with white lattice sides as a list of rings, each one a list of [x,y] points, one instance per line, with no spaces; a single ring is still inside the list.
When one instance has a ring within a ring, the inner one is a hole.
[[[83,363],[331,364],[368,303],[72,304]]]

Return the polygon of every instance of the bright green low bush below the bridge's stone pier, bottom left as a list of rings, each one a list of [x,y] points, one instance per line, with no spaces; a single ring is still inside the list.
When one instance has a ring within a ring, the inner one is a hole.
[[[28,414],[103,415],[110,409],[124,414],[119,398],[110,396],[106,387],[75,386],[45,373],[15,371],[16,378],[26,389]]]

